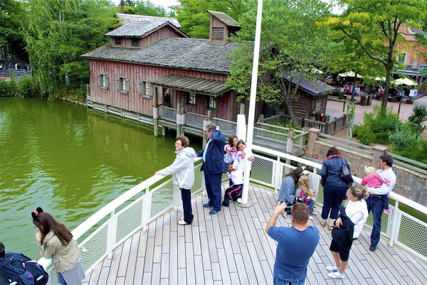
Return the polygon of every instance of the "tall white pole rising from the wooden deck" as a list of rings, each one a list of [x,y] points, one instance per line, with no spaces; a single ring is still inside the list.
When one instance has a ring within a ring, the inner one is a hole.
[[[252,151],[253,144],[253,122],[255,121],[255,101],[256,86],[258,83],[258,62],[260,59],[260,38],[261,38],[261,20],[263,18],[263,0],[258,0],[258,9],[256,12],[255,45],[253,48],[253,66],[251,82],[251,99],[249,100],[248,131],[246,136],[246,149]],[[251,167],[248,160],[245,160],[245,177],[243,178],[242,204],[248,203],[249,194],[249,176],[251,176]]]

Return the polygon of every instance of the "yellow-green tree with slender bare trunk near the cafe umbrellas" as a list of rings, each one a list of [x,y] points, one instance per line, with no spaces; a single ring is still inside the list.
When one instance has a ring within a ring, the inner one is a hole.
[[[384,68],[386,87],[381,107],[387,108],[391,72],[398,64],[396,47],[404,43],[401,26],[420,27],[427,18],[427,2],[423,0],[341,0],[347,6],[342,16],[331,17],[327,23],[341,31],[369,58],[369,64]]]

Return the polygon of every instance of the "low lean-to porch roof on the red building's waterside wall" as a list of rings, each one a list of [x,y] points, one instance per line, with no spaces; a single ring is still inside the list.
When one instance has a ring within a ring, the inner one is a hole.
[[[230,90],[225,86],[225,81],[211,80],[199,77],[181,75],[167,75],[153,81],[154,85],[160,85],[176,90],[196,92],[202,95],[217,97]]]

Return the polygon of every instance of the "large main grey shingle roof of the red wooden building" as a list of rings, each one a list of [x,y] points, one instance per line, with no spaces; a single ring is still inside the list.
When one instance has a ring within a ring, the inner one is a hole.
[[[237,45],[237,43],[211,45],[209,40],[195,38],[166,38],[142,49],[104,45],[81,56],[228,75],[230,60],[227,56],[237,48]]]

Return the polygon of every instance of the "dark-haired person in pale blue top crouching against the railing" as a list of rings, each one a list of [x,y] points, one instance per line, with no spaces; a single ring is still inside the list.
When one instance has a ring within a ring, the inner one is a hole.
[[[303,200],[295,195],[295,185],[300,180],[300,176],[304,170],[301,167],[295,168],[290,171],[288,175],[283,179],[282,185],[280,185],[280,193],[278,201],[280,203],[285,202],[288,206],[296,202],[303,202]],[[290,208],[287,207],[283,211],[283,216],[286,217],[287,213],[290,213]]]

